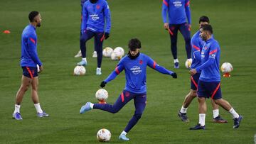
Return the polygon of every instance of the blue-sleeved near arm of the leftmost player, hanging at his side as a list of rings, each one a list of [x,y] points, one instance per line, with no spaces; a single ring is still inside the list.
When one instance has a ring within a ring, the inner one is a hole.
[[[28,54],[31,56],[31,59],[41,67],[41,65],[43,64],[41,60],[39,60],[39,57],[37,55],[36,43],[37,43],[36,35],[32,33],[28,34]]]

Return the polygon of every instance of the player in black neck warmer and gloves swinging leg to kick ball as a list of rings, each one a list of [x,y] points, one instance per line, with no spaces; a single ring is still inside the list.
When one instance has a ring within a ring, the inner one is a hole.
[[[105,84],[113,80],[124,70],[127,82],[123,92],[114,105],[92,104],[87,102],[80,109],[80,113],[85,113],[85,111],[89,111],[90,109],[101,109],[110,113],[117,113],[125,104],[134,99],[134,116],[131,118],[126,128],[124,128],[124,131],[119,135],[120,140],[126,141],[129,140],[129,138],[126,137],[127,133],[135,126],[137,121],[139,121],[146,106],[146,67],[149,66],[162,74],[169,74],[173,78],[177,78],[175,72],[166,70],[164,67],[154,62],[151,57],[140,53],[141,43],[137,38],[129,40],[128,48],[128,55],[119,61],[115,70],[100,84],[100,87],[105,87]]]

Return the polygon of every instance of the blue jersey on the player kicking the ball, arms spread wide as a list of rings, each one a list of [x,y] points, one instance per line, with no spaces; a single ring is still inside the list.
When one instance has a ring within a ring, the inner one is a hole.
[[[117,77],[117,74],[124,70],[126,84],[124,90],[133,92],[135,94],[142,94],[146,92],[146,67],[149,66],[152,69],[161,72],[163,74],[173,74],[166,68],[156,64],[151,57],[140,53],[139,56],[132,60],[127,55],[123,57],[115,70],[105,79],[105,82],[110,82]]]

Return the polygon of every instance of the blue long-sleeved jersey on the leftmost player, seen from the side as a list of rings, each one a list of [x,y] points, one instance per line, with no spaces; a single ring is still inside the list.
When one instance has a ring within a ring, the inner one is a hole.
[[[37,53],[36,28],[29,24],[21,35],[21,67],[36,67],[43,65]]]

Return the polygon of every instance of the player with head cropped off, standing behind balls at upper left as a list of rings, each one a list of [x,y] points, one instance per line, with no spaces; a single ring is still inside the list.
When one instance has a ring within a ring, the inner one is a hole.
[[[95,37],[95,48],[97,51],[96,74],[100,75],[102,64],[102,44],[103,40],[110,37],[110,9],[105,0],[85,1],[82,8],[82,35],[80,36],[80,49],[82,61],[78,65],[87,65],[86,42]],[[106,23],[106,25],[105,25]]]

